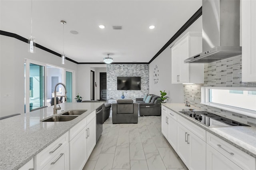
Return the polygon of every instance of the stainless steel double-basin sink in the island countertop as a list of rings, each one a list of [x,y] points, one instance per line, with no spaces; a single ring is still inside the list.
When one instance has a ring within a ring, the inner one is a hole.
[[[85,113],[87,110],[71,110],[71,111],[66,111],[58,116],[50,117],[48,119],[45,119],[42,122],[66,122],[66,121],[71,121],[78,117],[79,115],[82,115]]]

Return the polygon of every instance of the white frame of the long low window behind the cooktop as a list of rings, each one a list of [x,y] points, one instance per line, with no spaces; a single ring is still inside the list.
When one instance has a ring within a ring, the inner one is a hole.
[[[256,87],[201,87],[201,103],[200,103],[202,105],[216,107],[218,109],[223,109],[223,110],[231,111],[234,113],[239,113],[239,114],[250,116],[250,117],[256,117],[256,111],[251,111],[248,109],[242,109],[238,107],[209,102],[209,89],[256,91]]]

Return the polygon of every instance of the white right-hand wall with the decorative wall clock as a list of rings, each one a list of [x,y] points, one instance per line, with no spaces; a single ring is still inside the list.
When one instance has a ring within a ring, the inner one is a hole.
[[[178,30],[177,30],[178,31]],[[168,103],[183,103],[183,85],[172,84],[171,71],[171,49],[172,45],[176,43],[188,32],[202,32],[202,16],[198,18],[185,32],[182,33],[174,42],[172,42],[154,61],[149,65],[149,93],[160,95],[160,90],[166,91],[169,98]],[[158,67],[159,76],[158,83],[154,82],[154,70]]]

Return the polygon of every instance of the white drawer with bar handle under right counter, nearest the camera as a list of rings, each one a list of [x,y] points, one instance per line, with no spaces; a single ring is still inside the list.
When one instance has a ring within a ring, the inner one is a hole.
[[[242,169],[255,169],[255,158],[246,154],[242,150],[232,146],[224,140],[218,138],[210,132],[206,132],[207,144],[218,150],[221,154],[226,156],[229,160],[240,166]]]

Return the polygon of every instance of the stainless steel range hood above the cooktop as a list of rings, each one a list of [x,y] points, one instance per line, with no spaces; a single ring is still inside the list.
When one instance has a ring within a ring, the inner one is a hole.
[[[184,63],[211,63],[242,54],[240,0],[203,0],[203,52]]]

